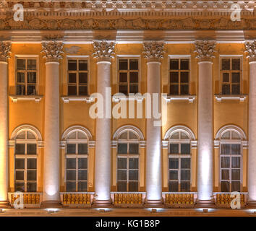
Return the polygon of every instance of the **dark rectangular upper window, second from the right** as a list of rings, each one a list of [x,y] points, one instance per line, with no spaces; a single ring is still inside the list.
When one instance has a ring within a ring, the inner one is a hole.
[[[189,59],[171,58],[169,78],[170,95],[189,95]]]

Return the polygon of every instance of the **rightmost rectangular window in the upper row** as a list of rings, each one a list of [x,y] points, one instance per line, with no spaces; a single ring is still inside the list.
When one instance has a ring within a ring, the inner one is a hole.
[[[241,58],[221,58],[222,95],[240,95],[241,78]]]

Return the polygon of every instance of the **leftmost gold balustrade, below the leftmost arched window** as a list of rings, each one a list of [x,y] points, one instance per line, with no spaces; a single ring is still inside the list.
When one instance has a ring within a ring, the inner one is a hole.
[[[22,194],[23,194],[24,208],[40,207],[40,204],[43,201],[43,193],[22,193]],[[18,198],[20,198],[19,195],[15,197],[14,193],[8,193],[8,199],[11,206],[14,206],[14,201]],[[20,202],[17,201],[17,204],[20,204]]]

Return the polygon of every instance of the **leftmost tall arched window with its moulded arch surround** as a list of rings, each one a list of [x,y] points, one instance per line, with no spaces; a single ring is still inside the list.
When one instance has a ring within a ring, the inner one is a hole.
[[[14,141],[14,190],[37,191],[38,141],[42,136],[30,125],[18,126],[12,132]]]

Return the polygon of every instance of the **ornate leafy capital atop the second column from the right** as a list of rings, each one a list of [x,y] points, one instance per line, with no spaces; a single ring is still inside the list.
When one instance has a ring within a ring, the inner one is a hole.
[[[199,62],[202,61],[212,61],[212,58],[215,58],[213,56],[213,53],[216,52],[216,42],[210,41],[210,40],[198,40],[195,41],[195,51],[197,53],[197,56],[195,58],[198,58]]]

